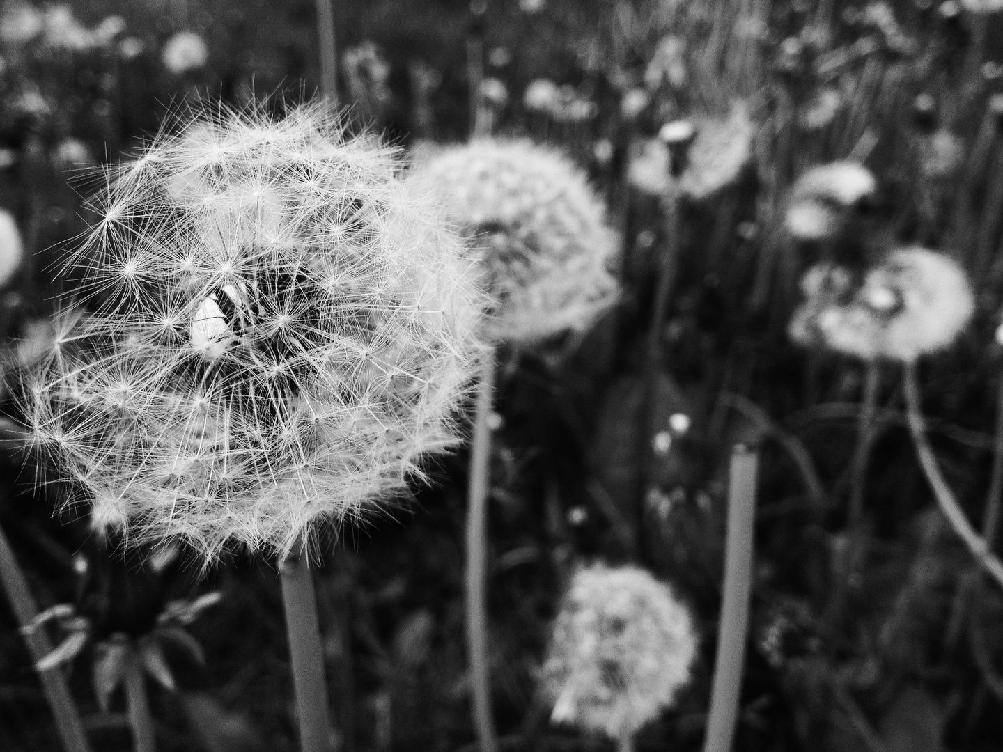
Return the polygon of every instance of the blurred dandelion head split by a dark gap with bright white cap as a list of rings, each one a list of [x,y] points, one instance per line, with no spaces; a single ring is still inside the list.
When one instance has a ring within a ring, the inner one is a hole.
[[[735,102],[725,118],[693,117],[666,125],[675,129],[682,123],[693,132],[686,145],[671,146],[686,149],[682,173],[673,178],[670,147],[664,140],[645,140],[634,147],[627,167],[628,182],[634,187],[651,196],[666,196],[675,187],[694,201],[702,201],[738,179],[752,158],[755,135],[747,105]]]

